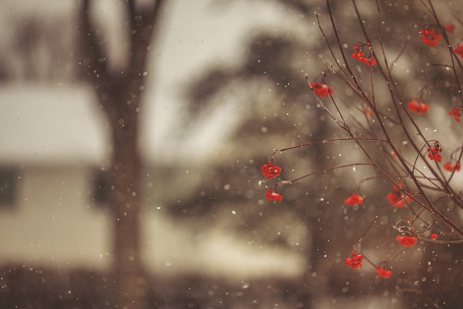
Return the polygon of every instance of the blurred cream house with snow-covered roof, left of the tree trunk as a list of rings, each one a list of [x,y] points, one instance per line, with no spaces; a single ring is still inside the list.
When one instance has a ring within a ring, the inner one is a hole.
[[[94,98],[19,84],[0,97],[0,259],[104,267],[111,220],[96,189],[110,145]]]

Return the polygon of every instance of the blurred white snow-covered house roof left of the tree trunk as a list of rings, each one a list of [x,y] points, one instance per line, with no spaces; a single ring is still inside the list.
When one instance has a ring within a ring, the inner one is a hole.
[[[109,127],[90,90],[0,86],[0,164],[106,165]]]

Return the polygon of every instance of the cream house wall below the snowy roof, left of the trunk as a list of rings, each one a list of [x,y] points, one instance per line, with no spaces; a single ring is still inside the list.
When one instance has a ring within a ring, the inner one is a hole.
[[[111,217],[91,205],[85,169],[25,168],[18,177],[15,204],[0,211],[1,262],[109,267]]]

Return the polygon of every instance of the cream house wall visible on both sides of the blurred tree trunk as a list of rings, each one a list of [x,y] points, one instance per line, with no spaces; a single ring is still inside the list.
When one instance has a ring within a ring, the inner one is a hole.
[[[0,263],[110,269],[113,218],[92,205],[91,179],[91,169],[72,166],[18,170],[16,201],[0,210]],[[179,223],[162,205],[145,207],[141,220],[142,259],[152,273],[251,279],[303,271],[294,252],[250,245],[220,224],[198,238],[194,221]]]

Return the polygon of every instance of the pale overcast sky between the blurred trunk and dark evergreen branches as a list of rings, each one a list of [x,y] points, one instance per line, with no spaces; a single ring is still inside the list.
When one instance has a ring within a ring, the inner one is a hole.
[[[147,89],[150,95],[145,102],[149,110],[144,114],[147,130],[142,139],[143,148],[158,156],[164,154],[165,159],[202,161],[212,153],[214,144],[232,132],[239,119],[229,117],[232,112],[229,102],[228,110],[218,107],[200,124],[193,124],[183,141],[173,140],[171,136],[179,127],[179,115],[185,103],[181,101],[183,84],[213,66],[238,68],[247,54],[246,44],[256,32],[294,29],[298,18],[290,16],[274,1],[175,0],[169,3],[156,50],[160,54],[153,63],[156,75],[149,75],[154,82],[153,87]],[[233,115],[239,117],[239,114]],[[194,145],[197,147],[192,151]]]

